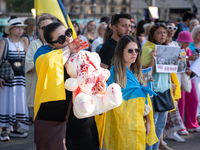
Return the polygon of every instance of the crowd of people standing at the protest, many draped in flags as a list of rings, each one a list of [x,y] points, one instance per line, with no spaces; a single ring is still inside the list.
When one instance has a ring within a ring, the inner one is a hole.
[[[184,136],[200,133],[200,78],[188,81],[190,92],[182,88],[200,53],[197,16],[185,12],[180,23],[136,23],[130,14],[120,12],[98,23],[91,20],[84,30],[77,21],[72,21],[74,30],[66,29],[47,15],[40,16],[37,25],[32,18],[22,23],[11,17],[7,37],[0,41],[0,64],[8,60],[14,71],[10,80],[0,76],[0,140],[27,137],[34,123],[37,150],[172,150],[163,139],[184,142]],[[156,45],[184,50],[187,70],[157,72]],[[119,107],[84,119],[73,114],[73,93],[64,88],[69,78],[65,64],[80,50],[98,53],[101,67],[110,70],[107,83],[99,81],[94,93],[103,94],[106,85],[117,83],[123,98]],[[149,67],[152,89],[142,74]]]

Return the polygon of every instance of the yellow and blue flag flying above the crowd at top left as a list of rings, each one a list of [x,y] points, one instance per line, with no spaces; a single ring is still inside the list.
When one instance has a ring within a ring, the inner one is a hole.
[[[36,15],[48,13],[55,16],[66,28],[72,29],[73,38],[76,38],[76,32],[61,0],[35,0],[34,3]]]

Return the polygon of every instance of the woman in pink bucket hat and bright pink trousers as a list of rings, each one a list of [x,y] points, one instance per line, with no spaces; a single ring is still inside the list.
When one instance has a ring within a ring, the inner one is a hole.
[[[189,61],[195,60],[198,57],[195,54],[192,54],[192,51],[190,50],[190,48],[188,48],[190,42],[193,42],[191,33],[188,31],[180,32],[176,41],[178,42],[181,49],[185,50],[187,66],[190,67]],[[186,70],[185,73],[187,75],[190,75],[191,70],[188,69]],[[181,74],[183,73],[177,74],[180,86],[181,86],[181,80],[182,80]],[[178,109],[180,112],[180,116],[182,118],[183,123],[185,122],[184,125],[187,128],[187,130],[185,129],[179,130],[178,133],[180,135],[188,135],[188,131],[200,132],[200,127],[196,119],[199,100],[197,97],[197,92],[196,92],[193,79],[191,80],[191,85],[192,85],[192,89],[190,93],[181,91],[181,99],[179,99],[179,102],[178,102]],[[186,121],[184,121],[185,119]]]

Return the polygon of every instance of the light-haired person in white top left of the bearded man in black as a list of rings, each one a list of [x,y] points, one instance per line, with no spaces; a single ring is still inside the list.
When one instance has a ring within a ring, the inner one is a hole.
[[[103,43],[103,37],[105,34],[107,28],[107,23],[106,22],[101,22],[98,24],[97,28],[96,28],[96,32],[98,34],[98,37],[92,42],[92,50],[91,52],[95,52],[97,46],[99,46],[99,44]]]

